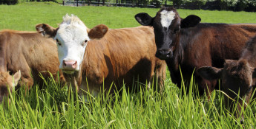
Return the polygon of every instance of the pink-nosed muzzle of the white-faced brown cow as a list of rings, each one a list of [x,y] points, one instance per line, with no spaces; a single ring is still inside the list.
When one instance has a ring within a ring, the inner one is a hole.
[[[73,74],[78,67],[76,60],[63,60],[62,71],[67,74]]]

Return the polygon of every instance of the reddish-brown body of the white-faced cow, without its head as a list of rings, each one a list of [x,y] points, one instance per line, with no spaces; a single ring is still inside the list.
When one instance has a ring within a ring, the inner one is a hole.
[[[82,74],[77,79],[78,86],[99,92],[102,91],[104,80],[107,90],[113,81],[117,89],[121,88],[123,82],[131,88],[133,83],[136,86],[137,78],[143,86],[146,80],[153,80],[154,73],[157,74],[158,86],[163,86],[166,64],[154,56],[156,50],[151,27],[109,29],[100,40],[88,42],[82,61]],[[113,89],[115,86],[111,91]]]

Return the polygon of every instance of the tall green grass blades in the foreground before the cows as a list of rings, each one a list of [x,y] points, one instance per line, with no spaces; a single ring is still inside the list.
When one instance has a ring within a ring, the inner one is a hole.
[[[191,78],[190,91],[182,95],[169,80],[160,92],[141,88],[130,93],[88,96],[85,102],[67,86],[61,88],[53,79],[45,88],[33,86],[13,91],[11,103],[0,105],[1,128],[255,128],[255,103],[245,110],[245,123],[240,124],[223,108],[223,94],[214,91],[210,100],[194,96],[196,86]],[[142,86],[144,87],[144,86]],[[103,99],[104,98],[104,99]]]

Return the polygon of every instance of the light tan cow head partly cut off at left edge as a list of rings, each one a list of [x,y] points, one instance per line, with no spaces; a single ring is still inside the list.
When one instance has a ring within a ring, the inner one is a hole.
[[[4,100],[4,97],[9,95],[8,88],[10,91],[18,84],[21,78],[21,72],[16,72],[13,76],[9,72],[0,72],[0,102]]]

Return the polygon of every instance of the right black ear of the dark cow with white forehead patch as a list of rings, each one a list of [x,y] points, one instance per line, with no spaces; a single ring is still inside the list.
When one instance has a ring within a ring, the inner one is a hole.
[[[189,28],[189,27],[196,27],[199,24],[201,18],[197,15],[188,15],[186,18],[182,19],[180,27],[181,28]]]

